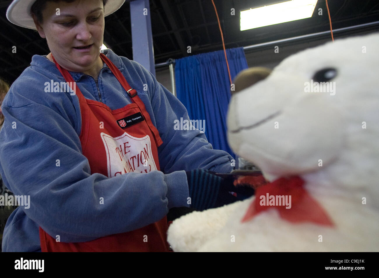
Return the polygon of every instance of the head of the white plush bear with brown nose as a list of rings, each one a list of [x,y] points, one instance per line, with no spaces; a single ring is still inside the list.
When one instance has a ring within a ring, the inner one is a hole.
[[[379,208],[378,53],[371,34],[241,73],[227,116],[231,148],[270,181],[300,175],[311,191],[367,194]]]

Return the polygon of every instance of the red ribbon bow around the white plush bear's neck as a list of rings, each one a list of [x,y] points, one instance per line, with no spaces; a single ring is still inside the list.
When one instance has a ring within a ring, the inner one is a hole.
[[[255,190],[255,199],[247,209],[241,222],[246,222],[258,213],[276,209],[280,217],[292,222],[313,222],[334,226],[328,214],[303,187],[304,180],[298,176],[280,178]],[[284,198],[283,198],[284,196]]]

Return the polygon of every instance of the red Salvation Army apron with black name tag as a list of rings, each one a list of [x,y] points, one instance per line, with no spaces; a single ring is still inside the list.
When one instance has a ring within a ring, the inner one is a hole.
[[[69,84],[76,86],[74,92],[79,98],[81,112],[79,138],[91,173],[100,173],[111,178],[128,172],[160,171],[157,147],[163,142],[144,103],[117,67],[104,54],[101,53],[100,57],[128,92],[132,104],[111,110],[103,103],[84,98],[69,72],[53,60],[66,82],[73,82]],[[166,232],[165,216],[160,221],[138,230],[88,242],[56,242],[55,237],[48,235],[41,227],[39,238],[42,252],[164,252],[168,251]],[[144,241],[145,235],[147,242]]]

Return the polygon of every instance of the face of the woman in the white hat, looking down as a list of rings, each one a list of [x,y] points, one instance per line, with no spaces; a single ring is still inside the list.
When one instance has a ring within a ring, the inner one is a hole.
[[[91,70],[99,64],[104,34],[102,0],[47,2],[42,16],[41,25],[35,17],[34,23],[58,64],[77,72]]]

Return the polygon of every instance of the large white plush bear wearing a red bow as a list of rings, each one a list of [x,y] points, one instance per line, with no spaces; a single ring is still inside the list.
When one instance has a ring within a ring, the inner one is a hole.
[[[243,81],[257,71],[264,70],[248,70]],[[376,33],[301,51],[234,93],[227,117],[233,151],[269,182],[300,178],[308,199],[270,207],[271,195],[259,193],[265,185],[242,202],[187,214],[169,227],[174,251],[378,252],[378,78]],[[248,210],[255,212],[241,222]],[[311,219],[315,211],[321,222]]]

